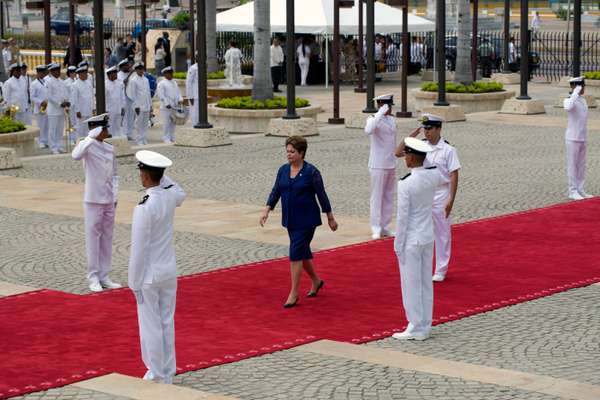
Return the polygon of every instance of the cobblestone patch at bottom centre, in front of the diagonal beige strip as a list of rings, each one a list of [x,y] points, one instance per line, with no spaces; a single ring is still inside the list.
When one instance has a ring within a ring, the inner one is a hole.
[[[174,383],[248,400],[555,399],[297,350],[178,375]]]

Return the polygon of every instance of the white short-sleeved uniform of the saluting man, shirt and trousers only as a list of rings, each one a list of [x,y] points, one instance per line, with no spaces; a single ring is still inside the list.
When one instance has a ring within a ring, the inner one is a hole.
[[[450,174],[460,169],[456,149],[444,138],[436,145],[426,141],[433,151],[427,153],[425,168],[435,166],[441,175],[440,185],[433,200],[433,230],[435,234],[435,273],[446,276],[452,250],[452,217],[446,218],[446,205],[450,198]]]

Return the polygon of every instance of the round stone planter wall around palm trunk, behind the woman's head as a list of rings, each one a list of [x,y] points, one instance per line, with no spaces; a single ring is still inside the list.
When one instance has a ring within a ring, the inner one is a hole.
[[[299,116],[312,118],[315,121],[321,111],[321,106],[318,105],[296,109]],[[216,104],[208,106],[208,120],[214,126],[223,127],[230,133],[266,133],[271,119],[281,118],[285,113],[285,109],[237,110],[217,107]]]

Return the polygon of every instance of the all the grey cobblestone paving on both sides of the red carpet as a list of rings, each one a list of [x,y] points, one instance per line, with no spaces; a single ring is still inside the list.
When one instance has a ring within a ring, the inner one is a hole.
[[[559,90],[545,96],[550,104]],[[385,90],[385,87],[382,89]],[[316,93],[317,91],[315,91]],[[315,97],[320,96],[319,93]],[[353,105],[356,106],[356,105]],[[600,119],[598,111],[591,118]],[[515,117],[515,121],[518,118]],[[399,121],[407,134],[414,119]],[[459,151],[463,169],[455,222],[566,201],[564,125],[486,123],[474,118],[449,124],[445,137]],[[590,133],[588,184],[600,194],[600,137]],[[228,147],[160,150],[175,161],[170,174],[194,198],[263,204],[285,162],[283,140],[248,137]],[[334,211],[368,217],[368,140],[359,130],[326,127],[309,138],[308,160],[323,172]],[[404,174],[400,165],[398,175]],[[3,175],[82,184],[79,163],[68,156],[31,158]],[[132,157],[119,159],[121,187],[138,190]],[[51,204],[48,207],[52,207]],[[83,221],[9,209],[0,204],[0,281],[85,293]],[[278,221],[271,221],[278,223]],[[130,229],[115,227],[115,280],[126,281]],[[284,256],[286,246],[176,232],[180,274]],[[434,328],[431,340],[366,344],[497,368],[600,385],[597,356],[600,286],[574,289]],[[176,377],[177,385],[242,399],[553,399],[510,387],[418,373],[298,350],[286,350]],[[67,386],[20,399],[124,399]]]

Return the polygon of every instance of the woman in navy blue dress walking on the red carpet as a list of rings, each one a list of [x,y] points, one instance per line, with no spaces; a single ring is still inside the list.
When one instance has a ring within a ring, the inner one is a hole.
[[[292,274],[292,287],[284,307],[290,308],[298,302],[298,288],[303,269],[312,280],[312,288],[307,297],[315,297],[325,283],[315,272],[310,251],[315,229],[321,225],[321,211],[327,214],[327,223],[332,231],[337,230],[338,224],[331,212],[321,173],[314,165],[304,161],[308,147],[306,139],[290,136],[285,141],[285,147],[288,164],[284,164],[277,172],[267,206],[260,216],[260,225],[265,225],[269,212],[281,198],[282,225],[287,228],[290,237]]]

